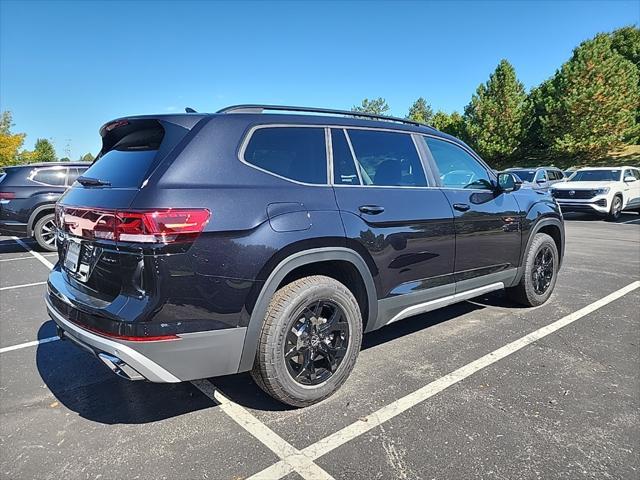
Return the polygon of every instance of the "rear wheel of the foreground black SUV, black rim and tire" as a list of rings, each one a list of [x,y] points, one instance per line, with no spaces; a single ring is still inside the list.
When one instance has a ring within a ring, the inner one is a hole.
[[[351,291],[330,277],[304,277],[271,299],[251,376],[282,403],[312,405],[345,382],[361,344],[362,316]]]

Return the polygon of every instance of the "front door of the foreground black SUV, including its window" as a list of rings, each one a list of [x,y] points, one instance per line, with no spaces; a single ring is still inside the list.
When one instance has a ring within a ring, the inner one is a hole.
[[[422,137],[455,215],[456,292],[494,282],[506,285],[520,262],[520,208],[511,193],[496,193],[495,178],[470,151]]]

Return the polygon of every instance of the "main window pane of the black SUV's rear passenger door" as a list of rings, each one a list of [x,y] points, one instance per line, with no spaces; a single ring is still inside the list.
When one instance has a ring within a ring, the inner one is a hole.
[[[387,187],[425,187],[427,180],[411,135],[348,130],[362,183]]]

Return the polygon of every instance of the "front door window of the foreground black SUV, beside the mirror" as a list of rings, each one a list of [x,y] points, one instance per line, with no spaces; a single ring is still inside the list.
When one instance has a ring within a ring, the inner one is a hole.
[[[447,188],[479,188],[490,187],[487,170],[475,158],[462,148],[451,142],[423,137],[433,155],[442,186]]]

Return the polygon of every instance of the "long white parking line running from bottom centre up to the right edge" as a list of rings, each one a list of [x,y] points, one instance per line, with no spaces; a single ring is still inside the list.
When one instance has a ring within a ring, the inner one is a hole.
[[[566,327],[567,325],[579,320],[586,315],[598,310],[599,308],[604,307],[605,305],[617,300],[618,298],[626,295],[629,292],[634,291],[640,287],[640,281],[635,281],[630,283],[626,287],[621,288],[600,300],[593,302],[590,305],[587,305],[580,310],[573,312],[560,320],[557,320],[549,325],[539,328],[538,330],[531,332],[524,337],[515,340],[497,350],[494,350],[491,353],[484,355],[483,357],[474,360],[471,363],[441,377],[424,387],[416,390],[413,393],[410,393],[389,405],[386,405],[379,410],[367,415],[362,419],[358,419],[351,425],[346,426],[342,430],[337,431],[336,433],[329,435],[318,442],[309,445],[308,447],[301,450],[301,454],[306,458],[310,458],[311,460],[317,460],[319,457],[326,455],[327,453],[335,450],[336,448],[344,445],[345,443],[353,440],[354,438],[359,437],[367,433],[369,430],[372,430],[384,422],[391,420],[392,418],[397,417],[401,413],[409,410],[415,405],[427,400],[428,398],[433,397],[437,393],[442,392],[446,388],[455,385],[456,383],[464,380],[465,378],[473,375],[474,373],[482,370],[489,365],[496,363],[499,360],[523,349],[524,347],[531,345],[534,342],[546,337],[547,335],[556,332],[557,330]],[[261,472],[256,473],[250,479],[278,479],[282,478],[285,475],[288,475],[293,471],[291,468],[288,458],[283,458],[279,462],[274,465],[265,468]]]

